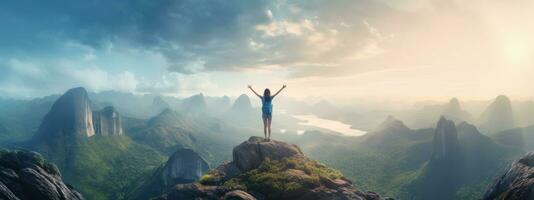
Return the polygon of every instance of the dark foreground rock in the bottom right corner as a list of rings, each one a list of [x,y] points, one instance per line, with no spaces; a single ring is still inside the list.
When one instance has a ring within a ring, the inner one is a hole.
[[[510,169],[486,191],[484,199],[534,199],[534,152],[515,161]]]

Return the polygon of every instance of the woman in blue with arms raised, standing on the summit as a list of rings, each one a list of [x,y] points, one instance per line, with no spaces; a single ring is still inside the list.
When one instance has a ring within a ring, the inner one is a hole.
[[[263,96],[259,95],[254,89],[252,89],[252,86],[248,86],[256,96],[258,96],[261,99],[261,112],[262,112],[262,119],[263,119],[263,134],[265,135],[265,139],[267,141],[271,140],[271,121],[273,119],[273,98],[278,95],[284,88],[286,88],[286,85],[282,86],[278,92],[276,92],[273,96],[271,96],[271,91],[269,88],[265,88],[265,91],[263,91]],[[267,135],[269,133],[269,135]]]

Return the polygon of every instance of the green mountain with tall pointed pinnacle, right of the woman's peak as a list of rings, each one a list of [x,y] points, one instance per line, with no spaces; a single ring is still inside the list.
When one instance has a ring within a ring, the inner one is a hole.
[[[477,199],[493,174],[517,154],[468,123],[441,118],[424,171],[408,185],[415,199]]]

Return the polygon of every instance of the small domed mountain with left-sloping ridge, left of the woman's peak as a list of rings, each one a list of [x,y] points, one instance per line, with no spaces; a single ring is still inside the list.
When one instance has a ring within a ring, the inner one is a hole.
[[[196,152],[191,149],[180,149],[128,199],[144,200],[159,196],[176,184],[192,183],[200,179],[208,169],[208,163]]]

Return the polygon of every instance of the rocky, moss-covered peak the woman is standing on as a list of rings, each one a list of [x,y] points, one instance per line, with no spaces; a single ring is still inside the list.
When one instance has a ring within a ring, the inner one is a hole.
[[[296,145],[251,137],[233,150],[233,161],[199,183],[178,184],[158,199],[383,199],[361,192],[337,170],[304,156]]]

